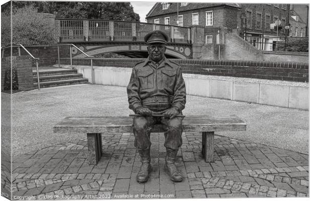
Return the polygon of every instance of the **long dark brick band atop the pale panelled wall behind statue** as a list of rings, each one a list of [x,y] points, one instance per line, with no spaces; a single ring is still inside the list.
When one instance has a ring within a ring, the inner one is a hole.
[[[95,66],[132,68],[144,59],[94,58]],[[308,82],[308,63],[244,61],[244,60],[199,60],[170,59],[182,66],[183,73],[249,77]],[[73,59],[73,65],[90,65],[90,59]],[[69,59],[61,59],[61,64],[70,64]]]

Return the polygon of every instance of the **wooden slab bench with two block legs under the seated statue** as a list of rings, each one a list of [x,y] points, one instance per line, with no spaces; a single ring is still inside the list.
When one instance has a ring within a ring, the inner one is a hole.
[[[132,133],[132,117],[67,117],[53,127],[55,133],[86,133],[90,164],[97,164],[102,156],[102,134]],[[183,132],[202,133],[202,154],[206,162],[213,162],[215,131],[246,131],[246,124],[235,115],[210,117],[187,116]],[[161,125],[154,125],[152,133],[164,132]]]

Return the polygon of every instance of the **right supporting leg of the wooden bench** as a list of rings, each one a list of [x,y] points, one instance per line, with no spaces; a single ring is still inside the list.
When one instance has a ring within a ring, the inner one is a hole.
[[[214,132],[202,132],[202,151],[207,163],[213,162]]]

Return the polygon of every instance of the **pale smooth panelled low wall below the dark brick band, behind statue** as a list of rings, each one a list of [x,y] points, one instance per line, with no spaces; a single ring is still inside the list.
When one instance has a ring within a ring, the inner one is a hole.
[[[69,65],[63,65],[69,67]],[[90,66],[74,65],[91,80]],[[94,66],[94,82],[103,85],[127,86],[132,69]],[[195,75],[183,73],[186,93],[205,97],[308,110],[308,84],[248,78]]]

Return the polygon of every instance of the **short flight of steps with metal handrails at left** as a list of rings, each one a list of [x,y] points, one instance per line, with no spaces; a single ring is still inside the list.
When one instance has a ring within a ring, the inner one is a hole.
[[[37,71],[33,69],[34,87],[38,88]],[[70,84],[87,84],[88,79],[76,69],[39,67],[40,88],[63,86]]]

